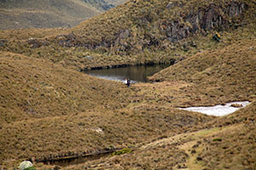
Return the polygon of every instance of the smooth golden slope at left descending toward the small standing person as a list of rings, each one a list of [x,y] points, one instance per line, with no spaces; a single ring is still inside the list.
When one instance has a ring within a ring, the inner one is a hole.
[[[128,104],[121,82],[98,80],[49,61],[1,52],[1,121],[115,110]]]

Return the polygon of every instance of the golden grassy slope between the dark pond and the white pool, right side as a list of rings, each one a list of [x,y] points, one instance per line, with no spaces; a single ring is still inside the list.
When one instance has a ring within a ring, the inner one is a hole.
[[[195,54],[189,59],[160,71],[153,81],[184,81],[186,94],[196,96],[184,105],[219,104],[233,100],[255,99],[255,40],[241,40],[225,48]]]

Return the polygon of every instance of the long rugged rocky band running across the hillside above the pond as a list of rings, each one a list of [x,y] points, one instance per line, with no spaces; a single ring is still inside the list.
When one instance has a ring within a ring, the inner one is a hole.
[[[130,2],[132,3],[132,2]],[[172,11],[173,8],[183,8],[184,3],[168,3],[166,10]],[[136,32],[129,26],[114,32],[109,31],[111,38],[103,37],[104,35],[97,35],[99,39],[92,42],[88,37],[84,37],[79,29],[74,29],[72,33],[60,35],[56,38],[59,45],[66,48],[84,47],[89,49],[107,48],[109,51],[115,53],[123,52],[130,54],[138,52],[145,48],[166,48],[166,44],[178,42],[184,38],[191,37],[196,33],[207,34],[207,31],[216,30],[221,31],[229,29],[233,26],[241,26],[242,18],[247,12],[248,5],[245,2],[231,1],[226,4],[210,3],[206,7],[198,8],[198,10],[190,10],[188,13],[179,13],[174,19],[164,20],[159,18],[155,20],[154,13],[148,12],[139,18],[140,21],[135,21],[137,17],[131,18],[131,25],[135,25],[138,29],[149,29],[143,32],[143,38],[137,40]],[[161,17],[161,14],[160,14]],[[117,19],[118,20],[118,19]],[[109,24],[109,20],[106,21]],[[84,24],[86,26],[86,24]],[[125,24],[124,24],[125,25]],[[147,28],[145,25],[152,25]],[[90,27],[83,27],[83,32]],[[154,30],[153,30],[154,29]],[[152,31],[155,31],[151,34]]]

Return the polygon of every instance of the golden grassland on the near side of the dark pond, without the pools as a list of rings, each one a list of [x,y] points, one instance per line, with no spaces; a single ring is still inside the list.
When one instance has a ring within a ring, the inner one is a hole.
[[[205,51],[152,77],[164,82],[131,88],[3,52],[1,162],[17,167],[31,157],[73,156],[115,146],[133,151],[65,168],[254,168],[254,152],[247,150],[255,148],[255,101],[219,118],[174,108],[253,101],[254,49],[254,39],[243,39]]]

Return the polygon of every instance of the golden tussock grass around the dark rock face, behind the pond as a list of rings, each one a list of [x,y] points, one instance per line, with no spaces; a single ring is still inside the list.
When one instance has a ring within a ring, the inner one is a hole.
[[[214,31],[202,31],[203,34],[200,31],[179,42],[172,43],[167,40],[166,32],[161,31],[162,26],[174,20],[179,20],[185,26],[185,19],[181,17],[183,14],[185,16],[190,13],[196,14],[199,8],[207,10],[211,5],[226,8],[230,1],[214,0],[212,2],[202,1],[201,3],[196,0],[189,2],[175,1],[172,3],[177,3],[177,6],[172,9],[166,8],[170,3],[169,1],[131,1],[86,20],[79,26],[60,31],[57,35],[45,34],[44,37],[39,39],[40,41],[49,42],[50,45],[32,48],[26,42],[29,37],[19,41],[17,40],[20,39],[19,36],[15,36],[17,39],[13,39],[13,36],[4,36],[8,42],[0,47],[0,50],[49,59],[73,69],[122,64],[137,65],[148,62],[168,63],[170,59],[188,58],[202,50],[223,48],[232,41],[252,38],[253,30],[255,30],[255,24],[253,23],[255,5],[248,0],[238,2],[247,3],[249,8],[245,14],[241,14],[241,16],[234,19],[225,16],[226,20],[230,20],[230,29],[216,28],[217,30]],[[238,26],[239,31],[236,31],[235,25]],[[33,30],[29,31],[34,32]],[[130,32],[129,36],[119,39],[121,32],[125,31]],[[224,43],[212,41],[212,35],[215,34],[215,31],[221,34]],[[3,34],[14,35],[6,31]],[[62,48],[59,42],[68,39],[63,34],[73,35],[75,39],[72,41],[78,46],[82,44],[82,47]],[[40,33],[40,35],[42,34]],[[38,36],[34,35],[32,37]],[[9,41],[10,39],[12,41]],[[117,39],[119,39],[118,42],[116,42]],[[159,44],[148,45],[152,41],[157,41]],[[196,48],[190,47],[188,45],[190,42],[195,42]],[[84,45],[92,48],[84,48]],[[88,59],[87,56],[92,58]]]

